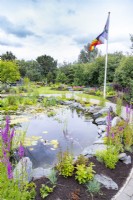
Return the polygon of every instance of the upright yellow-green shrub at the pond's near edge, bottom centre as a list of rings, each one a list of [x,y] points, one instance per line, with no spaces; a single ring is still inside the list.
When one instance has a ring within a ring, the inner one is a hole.
[[[59,152],[56,168],[62,176],[72,176],[74,171],[73,156],[68,151]]]

